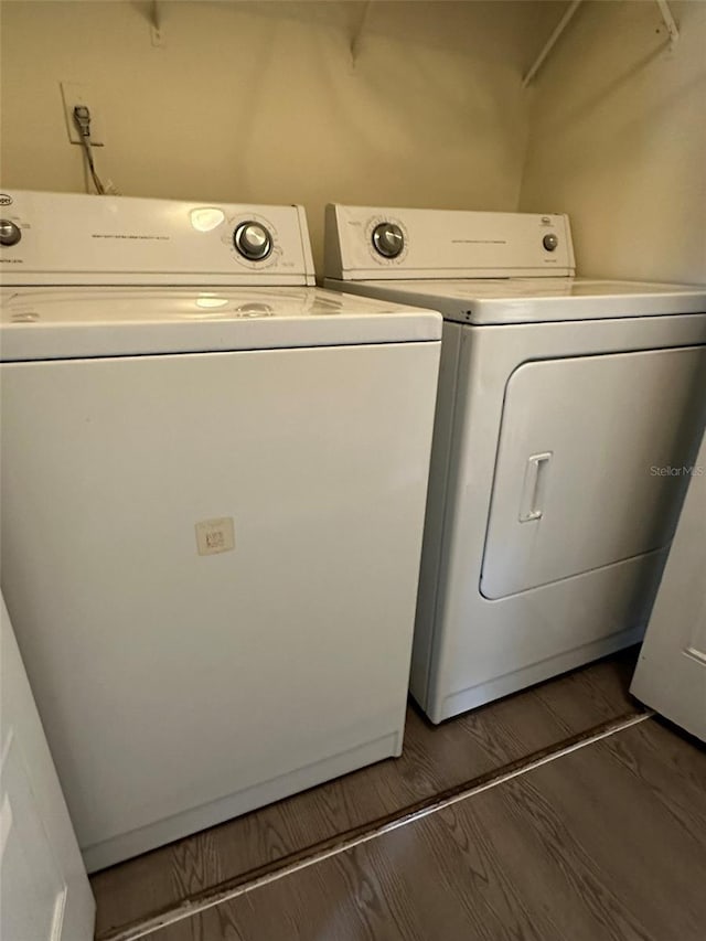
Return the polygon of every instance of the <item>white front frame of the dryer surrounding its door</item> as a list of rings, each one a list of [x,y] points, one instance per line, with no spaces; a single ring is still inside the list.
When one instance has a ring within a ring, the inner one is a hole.
[[[657,552],[495,601],[481,595],[509,376],[544,357],[703,342],[704,325],[691,316],[462,329],[437,601],[432,623],[422,628],[418,611],[416,627],[434,640],[428,687],[411,692],[434,721],[639,640],[664,562]]]

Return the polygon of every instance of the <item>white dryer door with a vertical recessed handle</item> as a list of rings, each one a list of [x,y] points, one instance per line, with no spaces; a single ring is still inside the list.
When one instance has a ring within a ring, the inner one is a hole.
[[[481,591],[498,599],[668,545],[698,447],[706,347],[512,374]]]

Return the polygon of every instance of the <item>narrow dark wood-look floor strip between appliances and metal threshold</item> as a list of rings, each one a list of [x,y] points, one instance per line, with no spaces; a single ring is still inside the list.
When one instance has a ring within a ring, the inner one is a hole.
[[[635,656],[634,649],[625,651],[438,727],[410,708],[402,758],[96,874],[97,938],[107,941],[188,899],[208,898],[220,887],[639,712],[628,694]]]

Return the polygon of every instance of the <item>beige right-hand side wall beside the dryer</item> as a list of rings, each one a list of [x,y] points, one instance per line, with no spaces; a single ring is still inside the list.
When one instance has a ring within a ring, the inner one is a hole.
[[[706,282],[706,3],[579,8],[532,90],[522,210],[571,216],[582,274]],[[656,32],[660,30],[660,32]]]

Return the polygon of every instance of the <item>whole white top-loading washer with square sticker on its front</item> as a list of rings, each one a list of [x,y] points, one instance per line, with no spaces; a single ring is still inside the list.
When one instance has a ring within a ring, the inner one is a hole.
[[[296,206],[1,214],[2,592],[88,868],[399,755],[439,314],[309,287]]]

